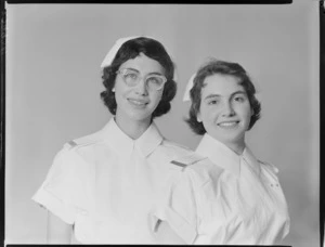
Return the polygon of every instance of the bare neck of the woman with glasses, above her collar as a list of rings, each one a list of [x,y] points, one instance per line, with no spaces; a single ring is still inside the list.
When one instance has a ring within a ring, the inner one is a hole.
[[[150,127],[151,120],[122,120],[118,115],[115,116],[116,125],[131,139],[139,139]]]

